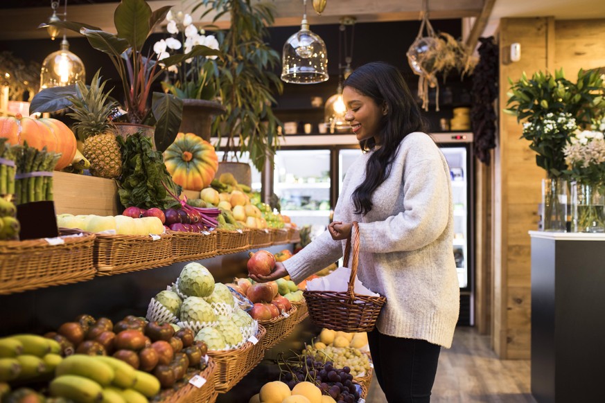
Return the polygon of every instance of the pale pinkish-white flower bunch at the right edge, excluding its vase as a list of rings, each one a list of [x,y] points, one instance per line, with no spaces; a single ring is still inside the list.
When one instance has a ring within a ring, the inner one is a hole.
[[[572,179],[597,185],[605,183],[605,118],[595,122],[591,128],[571,136],[563,152]]]

